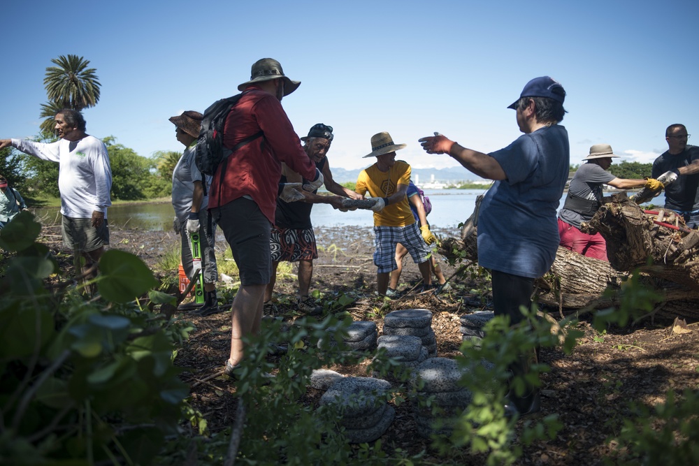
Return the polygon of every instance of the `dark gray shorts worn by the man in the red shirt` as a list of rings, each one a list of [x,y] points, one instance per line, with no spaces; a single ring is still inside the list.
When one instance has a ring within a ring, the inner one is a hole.
[[[238,265],[240,283],[265,285],[272,274],[269,249],[271,224],[257,203],[238,198],[209,212],[223,231]]]

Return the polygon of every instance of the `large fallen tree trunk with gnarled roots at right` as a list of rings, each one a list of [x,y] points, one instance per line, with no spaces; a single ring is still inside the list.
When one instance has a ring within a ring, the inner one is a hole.
[[[621,284],[631,273],[663,296],[653,315],[699,320],[699,233],[679,219],[647,214],[626,194],[615,194],[600,208],[584,231],[599,231],[607,241],[610,261],[600,261],[559,247],[549,272],[535,282],[538,301],[563,313],[602,309],[619,303]],[[440,254],[477,261],[476,231],[465,238],[442,240]],[[606,291],[606,293],[605,293]]]

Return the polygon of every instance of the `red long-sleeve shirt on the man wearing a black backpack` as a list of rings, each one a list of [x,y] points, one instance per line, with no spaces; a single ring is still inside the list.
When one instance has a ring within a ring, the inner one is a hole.
[[[252,90],[240,98],[226,118],[224,147],[230,149],[260,130],[264,136],[240,147],[219,165],[210,187],[209,208],[247,195],[274,223],[281,162],[308,180],[315,178],[315,164],[301,147],[280,101],[257,86],[247,89]]]

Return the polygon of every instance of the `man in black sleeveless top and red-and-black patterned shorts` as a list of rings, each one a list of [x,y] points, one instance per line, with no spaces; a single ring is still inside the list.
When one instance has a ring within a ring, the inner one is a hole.
[[[300,201],[287,201],[277,198],[277,210],[270,237],[270,249],[272,253],[272,276],[265,291],[263,318],[274,316],[276,309],[272,303],[272,292],[277,276],[277,267],[280,262],[298,262],[298,310],[305,314],[315,315],[322,311],[322,307],[315,303],[309,296],[310,280],[313,275],[313,259],[318,259],[318,251],[315,244],[315,234],[310,221],[310,212],[313,204],[331,204],[334,208],[342,208],[343,198],[360,199],[361,196],[354,191],[340,186],[335,180],[328,163],[328,151],[333,142],[333,128],[326,124],[318,123],[308,131],[308,136],[301,138],[305,143],[303,150],[308,158],[315,163],[316,168],[323,174],[325,188],[336,196],[319,196],[317,190],[313,192],[302,191],[303,199]],[[282,177],[280,184],[301,183],[303,177],[295,173],[282,163]]]

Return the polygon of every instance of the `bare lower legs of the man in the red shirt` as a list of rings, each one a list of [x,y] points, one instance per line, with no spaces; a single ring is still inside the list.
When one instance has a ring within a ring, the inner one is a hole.
[[[266,284],[242,285],[233,299],[231,310],[231,355],[232,365],[240,363],[244,356],[243,337],[259,333],[262,319],[262,298]]]

